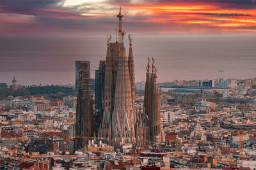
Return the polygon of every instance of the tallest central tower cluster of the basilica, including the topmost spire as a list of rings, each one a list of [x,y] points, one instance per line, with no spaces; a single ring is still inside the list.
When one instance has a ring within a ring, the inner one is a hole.
[[[129,35],[129,57],[126,56],[124,47],[125,32],[122,31],[122,11],[118,18],[118,41],[111,43],[111,36],[107,36],[106,60],[102,61],[99,74],[104,82],[103,92],[95,92],[96,100],[99,101],[98,111],[99,129],[98,135],[104,142],[116,147],[135,143],[134,123],[135,118],[135,83],[134,83],[134,60],[132,55],[132,38]],[[104,78],[103,78],[104,76]],[[102,96],[103,94],[103,96]],[[102,103],[100,103],[102,101]],[[102,106],[102,108],[100,108]]]

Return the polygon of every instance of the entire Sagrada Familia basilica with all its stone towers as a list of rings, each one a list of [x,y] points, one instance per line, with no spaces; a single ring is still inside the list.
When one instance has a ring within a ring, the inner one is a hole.
[[[88,97],[88,94],[84,93],[90,93],[88,86],[83,87],[83,81],[88,80],[90,74],[87,74],[89,76],[87,78],[82,75],[87,72],[86,66],[81,64],[81,76],[79,76],[81,85],[78,90],[76,119],[76,135],[79,134],[81,138],[76,139],[76,148],[86,145],[86,141],[93,133],[97,133],[98,138],[115,148],[121,146],[143,148],[164,140],[155,60],[152,58],[150,66],[151,60],[148,59],[143,108],[136,108],[132,36],[131,34],[128,36],[129,55],[127,57],[121,8],[117,17],[119,20],[118,41],[116,39],[111,43],[111,35],[107,36],[106,60],[100,60],[99,69],[95,71],[95,115],[97,117],[94,132],[88,124],[88,121],[93,122],[92,101],[88,98],[86,98],[87,101],[83,101],[83,96]],[[88,108],[84,109],[84,107]]]

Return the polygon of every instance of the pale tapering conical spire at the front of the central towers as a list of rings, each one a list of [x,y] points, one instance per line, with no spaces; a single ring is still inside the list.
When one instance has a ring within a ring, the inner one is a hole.
[[[112,142],[116,147],[134,142],[134,107],[132,106],[128,60],[124,48],[124,33],[122,39],[112,115]]]

